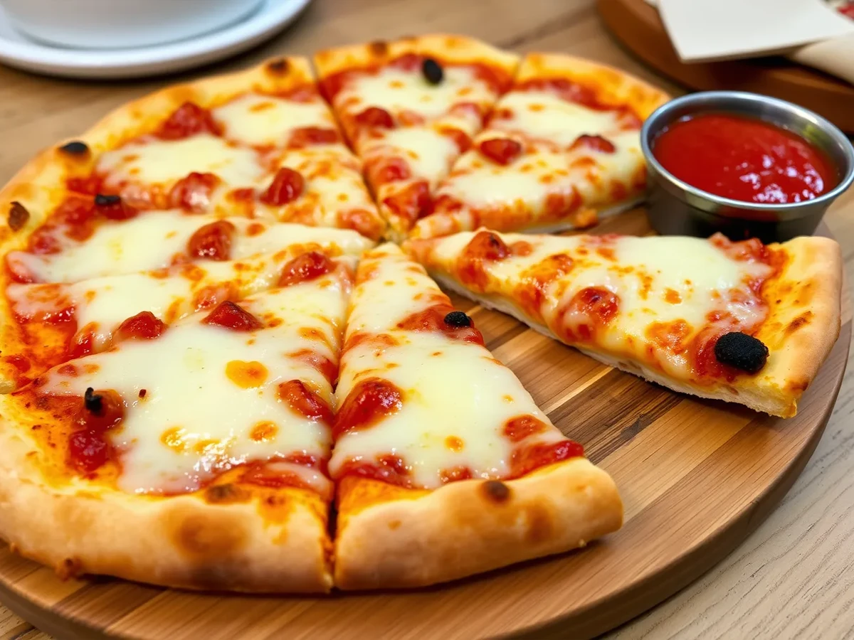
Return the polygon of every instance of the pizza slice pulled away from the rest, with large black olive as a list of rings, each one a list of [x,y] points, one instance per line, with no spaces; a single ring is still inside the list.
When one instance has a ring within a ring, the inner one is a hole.
[[[795,415],[839,336],[842,259],[828,238],[478,230],[408,248],[443,286],[605,364],[773,416]]]

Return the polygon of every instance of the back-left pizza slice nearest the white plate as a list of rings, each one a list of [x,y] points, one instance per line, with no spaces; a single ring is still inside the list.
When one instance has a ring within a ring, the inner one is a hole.
[[[374,239],[383,232],[360,162],[305,58],[158,91],[29,168],[37,185],[67,189],[63,199],[100,195],[115,207],[120,199],[131,209],[243,213]]]

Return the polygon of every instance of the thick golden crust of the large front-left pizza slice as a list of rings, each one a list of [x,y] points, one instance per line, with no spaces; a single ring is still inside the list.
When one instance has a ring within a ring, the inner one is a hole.
[[[48,485],[35,445],[0,421],[0,538],[61,577],[114,575],[193,590],[325,592],[332,585],[327,505],[300,490],[219,503],[150,498],[69,480]],[[208,496],[209,497],[209,496]]]

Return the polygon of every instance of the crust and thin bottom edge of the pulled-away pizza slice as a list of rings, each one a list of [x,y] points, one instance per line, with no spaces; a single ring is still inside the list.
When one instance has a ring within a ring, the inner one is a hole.
[[[781,275],[763,289],[771,309],[757,338],[769,347],[769,358],[757,375],[740,375],[732,383],[704,387],[674,380],[640,360],[571,346],[603,364],[640,375],[679,393],[745,404],[771,416],[792,417],[798,412],[798,399],[815,379],[839,337],[842,254],[838,242],[820,236],[799,237],[769,247],[786,251],[789,259]],[[488,309],[515,317],[553,340],[562,341],[511,300],[475,294],[451,277],[435,270],[428,271],[442,287]]]

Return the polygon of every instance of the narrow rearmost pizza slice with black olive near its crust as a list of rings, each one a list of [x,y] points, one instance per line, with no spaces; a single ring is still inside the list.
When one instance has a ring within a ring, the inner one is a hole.
[[[401,240],[430,212],[431,190],[483,127],[517,62],[517,55],[451,35],[315,55],[321,90],[389,221],[387,236]]]

